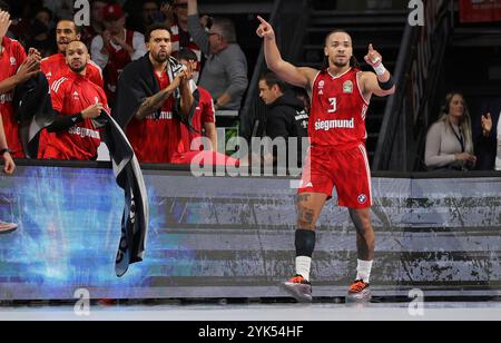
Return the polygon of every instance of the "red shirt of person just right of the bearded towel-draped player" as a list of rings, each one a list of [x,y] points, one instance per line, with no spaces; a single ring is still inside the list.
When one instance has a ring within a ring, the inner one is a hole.
[[[200,94],[200,101],[197,106],[191,121],[193,128],[195,128],[198,133],[188,130],[186,125],[181,126],[183,141],[185,144],[186,151],[203,149],[203,147],[193,149],[191,143],[194,141],[194,139],[203,137],[202,131],[205,124],[216,122],[213,97],[206,89],[202,87],[198,87],[198,92]],[[216,147],[213,148],[216,149]]]

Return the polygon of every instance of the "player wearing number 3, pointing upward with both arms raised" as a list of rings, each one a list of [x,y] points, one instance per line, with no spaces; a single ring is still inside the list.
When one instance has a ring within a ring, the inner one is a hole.
[[[297,68],[282,59],[273,27],[258,19],[257,35],[264,39],[268,68],[284,81],[312,92],[308,128],[312,146],[297,198],[296,276],[283,283],[283,287],[299,302],[312,301],[310,270],[315,226],[336,187],[340,206],[348,208],[357,232],[357,275],[347,300],[369,301],[374,229],[365,115],[373,95],[394,94],[394,81],[372,45],[365,61],[376,74],[357,69],[352,38],[344,31],[333,31],[326,37],[322,70]]]

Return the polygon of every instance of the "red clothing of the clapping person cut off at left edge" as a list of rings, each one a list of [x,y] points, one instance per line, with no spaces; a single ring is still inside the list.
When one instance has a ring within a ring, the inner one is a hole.
[[[0,53],[0,81],[14,76],[26,60],[26,51],[17,40],[3,37],[2,47],[2,52]],[[7,144],[12,150],[12,157],[24,158],[21,141],[19,140],[19,126],[14,118],[12,96],[13,90],[0,95],[0,114],[3,119]]]

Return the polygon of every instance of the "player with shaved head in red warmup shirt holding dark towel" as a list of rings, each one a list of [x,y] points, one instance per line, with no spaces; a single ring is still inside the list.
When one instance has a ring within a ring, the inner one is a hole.
[[[56,119],[47,128],[51,133],[45,159],[95,160],[101,144],[95,127],[102,111],[109,114],[101,87],[86,78],[89,52],[81,41],[68,45],[66,60],[70,70],[52,82],[50,96]]]

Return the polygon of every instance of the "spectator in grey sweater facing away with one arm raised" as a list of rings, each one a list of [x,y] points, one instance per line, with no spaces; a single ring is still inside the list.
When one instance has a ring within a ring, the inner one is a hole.
[[[197,0],[188,0],[188,31],[207,60],[199,85],[213,96],[216,110],[239,110],[248,86],[247,59],[236,43],[229,19],[213,19],[207,32],[200,24]]]

